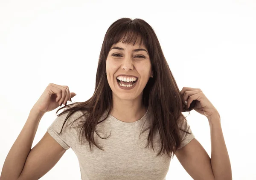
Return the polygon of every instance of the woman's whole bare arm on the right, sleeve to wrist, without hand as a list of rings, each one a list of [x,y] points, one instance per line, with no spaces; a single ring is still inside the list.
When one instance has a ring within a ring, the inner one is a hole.
[[[194,180],[232,180],[230,160],[221,130],[220,117],[209,120],[211,158],[195,138],[175,153]]]

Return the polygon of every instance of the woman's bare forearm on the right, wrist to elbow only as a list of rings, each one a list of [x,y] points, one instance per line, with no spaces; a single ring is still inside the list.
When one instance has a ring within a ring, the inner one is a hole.
[[[211,165],[215,180],[232,180],[227,147],[221,129],[220,116],[208,118],[211,133]]]

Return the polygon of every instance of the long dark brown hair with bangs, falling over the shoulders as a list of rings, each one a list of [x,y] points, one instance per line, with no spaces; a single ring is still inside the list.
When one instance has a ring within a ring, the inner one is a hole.
[[[150,131],[146,147],[148,147],[151,142],[154,150],[153,134],[154,131],[158,129],[162,147],[157,156],[161,151],[163,151],[163,153],[166,151],[169,157],[173,157],[175,151],[181,144],[180,130],[184,131],[180,129],[178,123],[181,120],[186,120],[181,112],[190,111],[193,107],[186,109],[186,104],[182,100],[178,86],[163,55],[157,35],[152,27],[142,19],[131,20],[130,18],[121,18],[116,20],[108,28],[99,55],[94,94],[85,102],[76,102],[58,109],[59,111],[63,108],[67,108],[61,112],[61,114],[70,112],[63,123],[62,129],[68,117],[70,117],[74,112],[84,111],[84,115],[87,114],[87,116],[86,121],[84,121],[81,126],[79,137],[83,138],[83,135],[85,135],[86,140],[89,142],[90,150],[91,143],[93,143],[97,148],[104,151],[102,147],[99,147],[95,143],[93,133],[96,131],[96,125],[108,117],[113,105],[112,90],[108,84],[105,73],[106,59],[113,44],[121,41],[122,43],[135,44],[138,37],[140,37],[140,45],[143,43],[143,45],[148,49],[151,67],[154,74],[153,78],[149,78],[148,83],[143,90],[143,104],[148,108],[148,114],[152,120],[151,126],[148,128]],[[102,121],[98,121],[105,111],[108,112],[107,116]],[[58,116],[61,114],[58,114]],[[99,136],[97,131],[96,133]]]

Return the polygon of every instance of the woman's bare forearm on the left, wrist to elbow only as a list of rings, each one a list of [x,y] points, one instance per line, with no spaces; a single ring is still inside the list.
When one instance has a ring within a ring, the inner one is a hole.
[[[33,110],[30,111],[23,129],[7,154],[0,180],[15,180],[20,176],[43,115]]]

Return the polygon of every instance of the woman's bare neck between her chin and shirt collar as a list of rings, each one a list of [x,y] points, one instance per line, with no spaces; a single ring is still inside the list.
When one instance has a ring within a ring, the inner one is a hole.
[[[140,120],[146,113],[147,109],[143,105],[142,96],[134,100],[122,100],[113,94],[113,108],[110,114],[118,120],[132,123]]]

